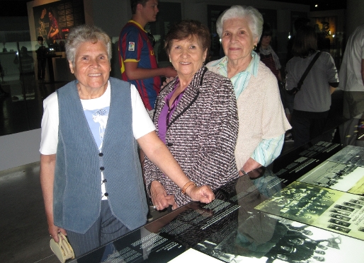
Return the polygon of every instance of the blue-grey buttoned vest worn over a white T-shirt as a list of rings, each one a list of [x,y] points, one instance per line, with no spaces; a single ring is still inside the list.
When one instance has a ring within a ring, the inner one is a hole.
[[[102,151],[72,81],[57,90],[59,128],[53,211],[55,225],[86,233],[101,211],[101,170],[113,215],[129,229],[147,221],[137,141],[132,133],[130,84],[110,78],[111,100]]]

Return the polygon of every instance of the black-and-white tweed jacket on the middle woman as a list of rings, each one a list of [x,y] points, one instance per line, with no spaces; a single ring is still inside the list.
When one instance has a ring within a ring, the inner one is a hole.
[[[178,77],[174,78],[158,95],[154,112],[157,133],[164,98],[177,80]],[[232,82],[202,66],[171,116],[166,146],[191,181],[198,186],[210,185],[214,190],[239,177],[234,157],[238,126]],[[144,177],[148,194],[150,183],[157,180],[164,185],[167,194],[174,194],[178,206],[191,201],[148,158],[144,161]]]

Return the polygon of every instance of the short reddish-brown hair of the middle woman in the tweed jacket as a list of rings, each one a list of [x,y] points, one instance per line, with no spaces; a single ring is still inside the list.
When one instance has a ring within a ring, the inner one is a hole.
[[[173,40],[186,40],[192,37],[197,37],[203,51],[207,49],[208,53],[211,45],[210,31],[206,25],[195,20],[183,20],[176,23],[164,37],[164,49],[169,54]]]

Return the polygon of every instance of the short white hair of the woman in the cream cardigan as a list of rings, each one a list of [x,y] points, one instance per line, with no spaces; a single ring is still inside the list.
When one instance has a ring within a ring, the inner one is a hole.
[[[219,37],[222,37],[222,26],[224,22],[232,18],[245,18],[248,21],[249,29],[253,33],[254,38],[261,39],[263,31],[263,16],[252,6],[232,6],[225,10],[216,22],[216,30]]]

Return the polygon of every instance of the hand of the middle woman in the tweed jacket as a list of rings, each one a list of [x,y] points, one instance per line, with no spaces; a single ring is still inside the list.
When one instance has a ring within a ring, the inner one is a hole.
[[[174,196],[167,194],[166,189],[158,181],[153,181],[150,184],[150,194],[157,210],[166,209],[168,206],[172,206],[172,209],[178,207],[176,201],[174,201]]]

